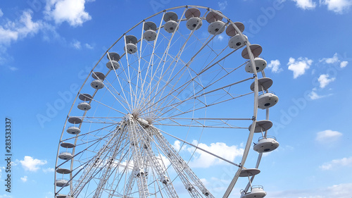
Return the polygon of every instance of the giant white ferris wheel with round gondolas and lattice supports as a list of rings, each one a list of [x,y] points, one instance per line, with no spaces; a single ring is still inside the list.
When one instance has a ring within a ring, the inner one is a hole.
[[[278,97],[268,90],[262,47],[243,31],[220,11],[180,6],[118,37],[68,113],[55,197],[215,197],[191,169],[199,152],[237,168],[223,197],[240,177],[249,180],[241,198],[265,197],[252,183],[262,154],[279,147],[268,135]],[[221,139],[245,142],[241,156],[199,144]],[[258,156],[254,167],[245,164],[249,154]]]

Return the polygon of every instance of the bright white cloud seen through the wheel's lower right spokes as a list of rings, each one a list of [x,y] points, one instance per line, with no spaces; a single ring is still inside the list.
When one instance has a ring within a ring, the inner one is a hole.
[[[192,144],[197,145],[196,140],[194,140]],[[199,143],[198,147],[210,151],[211,153],[221,156],[229,161],[234,161],[237,156],[241,156],[244,152],[244,149],[239,149],[235,145],[228,146],[223,142],[211,143],[209,146],[207,144]],[[194,151],[193,148],[187,150],[190,153]],[[192,168],[208,168],[218,164],[228,163],[199,149],[196,150],[194,158],[189,162],[189,166]]]

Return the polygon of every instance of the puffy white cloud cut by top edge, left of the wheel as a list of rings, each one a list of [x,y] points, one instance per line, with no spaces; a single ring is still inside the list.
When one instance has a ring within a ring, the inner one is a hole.
[[[56,24],[68,22],[71,26],[80,26],[92,17],[84,11],[85,0],[49,0],[44,13],[46,18],[54,19]]]

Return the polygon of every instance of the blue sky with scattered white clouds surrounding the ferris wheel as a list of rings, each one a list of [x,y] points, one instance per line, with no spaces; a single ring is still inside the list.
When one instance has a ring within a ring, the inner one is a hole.
[[[1,118],[11,118],[13,127],[13,192],[5,192],[0,168],[1,198],[54,197],[57,144],[78,87],[123,32],[187,4],[241,21],[244,34],[265,50],[266,74],[279,96],[270,132],[280,143],[256,178],[267,197],[351,197],[351,0],[32,0],[0,2]],[[229,151],[243,147],[221,137],[202,145],[230,159],[236,154]],[[192,163],[210,189],[231,180],[230,166],[202,154]],[[206,175],[211,170],[218,175]]]

